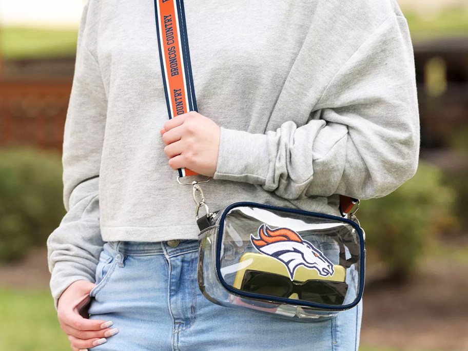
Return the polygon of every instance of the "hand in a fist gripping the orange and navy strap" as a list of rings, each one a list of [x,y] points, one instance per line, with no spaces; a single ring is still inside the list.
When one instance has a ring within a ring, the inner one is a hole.
[[[221,135],[216,123],[191,111],[164,123],[160,133],[172,169],[188,168],[208,177],[214,175]]]

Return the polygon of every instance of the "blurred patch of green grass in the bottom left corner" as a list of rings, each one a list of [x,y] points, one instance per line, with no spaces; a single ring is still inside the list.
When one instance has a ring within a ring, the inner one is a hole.
[[[0,289],[0,350],[70,349],[49,291]]]

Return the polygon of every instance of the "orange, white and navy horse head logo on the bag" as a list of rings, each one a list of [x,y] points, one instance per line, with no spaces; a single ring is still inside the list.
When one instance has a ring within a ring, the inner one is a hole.
[[[323,255],[322,251],[308,241],[302,240],[299,234],[291,229],[270,229],[266,224],[262,224],[258,229],[258,235],[259,238],[250,235],[253,247],[283,263],[291,280],[299,266],[315,269],[322,277],[332,276],[335,272],[333,263]]]

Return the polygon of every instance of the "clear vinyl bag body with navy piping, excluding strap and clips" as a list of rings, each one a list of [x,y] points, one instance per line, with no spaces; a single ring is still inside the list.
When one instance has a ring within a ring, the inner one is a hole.
[[[199,278],[213,302],[309,321],[359,302],[364,243],[354,222],[239,203],[217,224],[200,243]]]

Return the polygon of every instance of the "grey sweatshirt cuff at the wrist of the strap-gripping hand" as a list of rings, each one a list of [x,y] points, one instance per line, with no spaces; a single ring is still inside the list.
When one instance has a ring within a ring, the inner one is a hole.
[[[218,165],[213,179],[265,185],[269,165],[267,135],[220,129]]]

